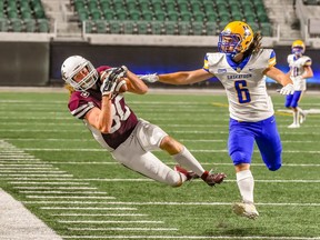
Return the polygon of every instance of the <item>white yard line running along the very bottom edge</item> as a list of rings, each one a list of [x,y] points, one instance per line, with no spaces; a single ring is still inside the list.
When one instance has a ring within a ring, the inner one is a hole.
[[[267,240],[319,240],[320,237],[263,237],[263,236],[62,236],[63,239],[267,239]]]

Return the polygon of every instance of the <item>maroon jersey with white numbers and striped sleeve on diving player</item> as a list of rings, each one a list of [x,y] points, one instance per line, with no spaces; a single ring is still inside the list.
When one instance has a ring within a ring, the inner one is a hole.
[[[100,67],[97,70],[100,72],[106,69],[108,69],[108,67]],[[89,89],[87,92],[74,91],[70,97],[68,107],[72,116],[82,119],[86,124],[89,124],[84,116],[94,107],[101,109],[101,100],[102,94],[100,90]],[[109,150],[118,148],[126,141],[138,123],[137,116],[126,104],[122,94],[117,94],[112,98],[111,102],[113,122],[110,133],[101,133],[92,126],[88,126],[96,140],[99,141],[101,146],[109,147]]]

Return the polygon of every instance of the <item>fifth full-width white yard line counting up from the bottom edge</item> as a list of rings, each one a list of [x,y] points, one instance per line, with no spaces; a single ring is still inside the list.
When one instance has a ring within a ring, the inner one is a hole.
[[[88,151],[88,152],[106,152],[106,149],[39,149],[39,148],[24,148],[24,151]],[[227,149],[213,150],[213,149],[189,149],[191,152],[228,152]],[[253,152],[259,152],[254,150]],[[299,150],[283,150],[283,153],[311,153],[319,154],[320,151],[299,151]]]

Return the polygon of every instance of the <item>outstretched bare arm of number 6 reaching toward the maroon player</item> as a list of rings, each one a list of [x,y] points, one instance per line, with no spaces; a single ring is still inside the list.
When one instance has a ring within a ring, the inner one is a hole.
[[[212,78],[213,74],[198,69],[193,71],[180,71],[167,74],[159,74],[159,81],[169,84],[191,84]]]

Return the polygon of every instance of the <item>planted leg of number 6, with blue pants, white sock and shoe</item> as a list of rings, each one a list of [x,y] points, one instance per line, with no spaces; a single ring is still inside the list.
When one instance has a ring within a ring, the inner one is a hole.
[[[233,211],[247,218],[259,216],[253,200],[254,179],[250,170],[254,144],[254,133],[250,130],[254,123],[230,120],[228,148],[236,168],[237,184],[242,202],[233,204]]]

